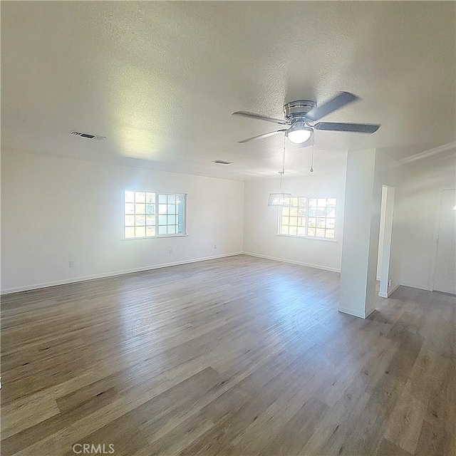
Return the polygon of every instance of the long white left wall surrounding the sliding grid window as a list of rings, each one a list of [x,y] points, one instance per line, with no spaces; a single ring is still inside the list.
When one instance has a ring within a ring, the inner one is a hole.
[[[187,193],[189,236],[123,240],[127,189]],[[242,252],[243,204],[244,182],[2,152],[1,290]]]

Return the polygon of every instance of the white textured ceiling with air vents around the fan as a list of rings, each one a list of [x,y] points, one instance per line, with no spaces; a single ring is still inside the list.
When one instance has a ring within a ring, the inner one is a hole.
[[[363,147],[400,159],[455,140],[455,55],[452,1],[2,1],[2,147],[271,177],[283,137],[238,144],[275,125],[231,113],[348,90],[362,100],[324,120],[382,127],[318,131],[318,166]],[[309,147],[286,153],[288,173],[309,172]]]

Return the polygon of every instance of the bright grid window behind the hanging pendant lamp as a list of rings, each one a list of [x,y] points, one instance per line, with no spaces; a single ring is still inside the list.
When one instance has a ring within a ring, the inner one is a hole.
[[[277,234],[334,239],[336,198],[291,197],[279,210]]]

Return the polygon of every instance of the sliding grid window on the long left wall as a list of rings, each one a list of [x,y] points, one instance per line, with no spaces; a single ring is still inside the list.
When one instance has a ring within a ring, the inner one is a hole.
[[[124,236],[182,236],[186,195],[125,190]]]

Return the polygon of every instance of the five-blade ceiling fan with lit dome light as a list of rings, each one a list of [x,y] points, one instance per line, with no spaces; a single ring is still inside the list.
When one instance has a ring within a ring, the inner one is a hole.
[[[323,105],[318,106],[311,100],[291,101],[284,105],[285,119],[274,119],[264,115],[247,113],[246,111],[236,111],[232,115],[240,115],[257,120],[266,120],[266,122],[278,123],[286,128],[264,133],[262,135],[252,136],[238,142],[247,142],[251,140],[259,140],[268,136],[276,135],[277,133],[285,132],[286,137],[295,144],[303,144],[314,133],[314,130],[326,131],[347,131],[353,133],[375,133],[380,125],[372,125],[368,123],[333,123],[333,122],[316,122],[325,115],[331,114],[334,111],[343,108],[354,101],[359,100],[357,95],[349,92],[341,92],[331,100],[328,100]],[[311,125],[313,124],[313,125]]]

